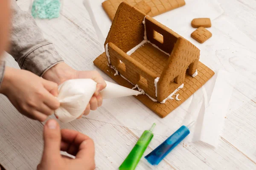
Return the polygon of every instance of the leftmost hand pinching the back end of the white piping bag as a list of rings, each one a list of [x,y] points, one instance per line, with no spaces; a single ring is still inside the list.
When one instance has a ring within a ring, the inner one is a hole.
[[[7,67],[0,93],[6,95],[21,114],[41,122],[60,106],[55,98],[58,85],[25,70]]]

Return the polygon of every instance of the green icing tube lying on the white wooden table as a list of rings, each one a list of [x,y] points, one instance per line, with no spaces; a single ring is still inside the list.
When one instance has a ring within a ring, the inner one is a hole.
[[[129,155],[126,157],[125,161],[119,167],[119,170],[134,170],[139,163],[143,153],[145,152],[148,144],[151,142],[153,138],[152,130],[155,127],[155,123],[151,126],[150,130],[145,130],[143,134],[140,136],[140,139],[132,148]]]

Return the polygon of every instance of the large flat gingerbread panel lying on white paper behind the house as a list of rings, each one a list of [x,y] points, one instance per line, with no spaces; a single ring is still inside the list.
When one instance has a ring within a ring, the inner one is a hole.
[[[102,7],[108,14],[108,17],[113,21],[117,8],[120,5],[120,3],[126,2],[129,3],[131,6],[140,6],[139,3],[145,3],[147,6],[151,8],[150,11],[148,11],[148,7],[141,10],[145,14],[147,14],[150,17],[154,17],[160,14],[163,14],[167,11],[171,11],[172,9],[179,8],[181,6],[184,6],[185,0],[105,0],[102,3]],[[148,13],[146,13],[148,11]]]

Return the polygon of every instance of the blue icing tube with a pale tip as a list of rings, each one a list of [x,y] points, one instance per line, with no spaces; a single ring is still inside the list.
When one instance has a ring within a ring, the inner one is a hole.
[[[158,165],[173,148],[177,146],[186,136],[189,135],[189,128],[195,124],[195,121],[191,122],[188,126],[181,126],[175,133],[160,144],[151,153],[145,156],[145,159],[152,165]]]

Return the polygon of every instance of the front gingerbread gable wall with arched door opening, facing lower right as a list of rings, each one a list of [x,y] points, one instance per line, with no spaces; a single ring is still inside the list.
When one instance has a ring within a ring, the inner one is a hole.
[[[199,57],[200,50],[195,45],[183,37],[178,38],[157,84],[157,101],[163,101],[175,91],[184,82],[186,74],[195,73]]]

